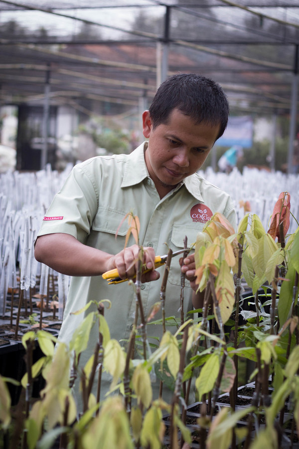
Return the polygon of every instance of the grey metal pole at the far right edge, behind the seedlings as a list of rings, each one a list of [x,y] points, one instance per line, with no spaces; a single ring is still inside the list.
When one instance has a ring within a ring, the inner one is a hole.
[[[298,97],[298,49],[295,49],[295,64],[292,84],[292,102],[291,102],[291,118],[290,118],[290,133],[289,133],[289,152],[288,152],[288,173],[293,173],[293,156],[294,156],[294,140],[296,134],[296,119],[297,119],[297,97]]]

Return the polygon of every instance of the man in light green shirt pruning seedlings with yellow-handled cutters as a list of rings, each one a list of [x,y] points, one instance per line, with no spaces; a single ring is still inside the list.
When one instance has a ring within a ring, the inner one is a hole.
[[[152,268],[155,254],[188,245],[215,212],[235,225],[230,197],[196,172],[228,120],[228,103],[214,81],[193,74],[172,76],[161,84],[149,110],[143,113],[143,134],[148,142],[130,155],[96,157],[78,164],[53,200],[41,225],[35,245],[37,260],[73,276],[60,339],[68,342],[84,315],[70,315],[91,299],[108,298],[105,312],[111,337],[125,341],[134,322],[135,295],[128,282],[108,285],[102,274],[117,268],[121,278],[135,274],[139,246],[132,239],[125,246],[128,224],[125,215],[133,211],[140,219],[140,244],[144,262]],[[115,237],[117,233],[117,238]],[[165,244],[166,243],[166,244]],[[185,311],[192,308],[196,290],[194,256],[180,268],[174,258],[166,288],[166,316],[178,316],[180,273],[186,274]],[[142,300],[147,316],[159,301],[163,268],[142,276]],[[156,318],[160,318],[157,315]],[[178,320],[179,321],[179,320]],[[148,326],[156,341],[157,326]],[[86,351],[88,360],[95,346]],[[109,379],[105,389],[109,386]]]

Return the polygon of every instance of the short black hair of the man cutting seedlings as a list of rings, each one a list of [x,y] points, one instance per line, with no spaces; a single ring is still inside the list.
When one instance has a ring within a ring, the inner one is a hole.
[[[183,73],[167,78],[158,88],[149,107],[152,126],[167,123],[173,109],[201,122],[220,125],[217,139],[225,131],[229,105],[222,87],[210,78]]]

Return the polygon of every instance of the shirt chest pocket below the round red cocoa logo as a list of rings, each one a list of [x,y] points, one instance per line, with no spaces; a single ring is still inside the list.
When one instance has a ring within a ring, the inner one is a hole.
[[[193,226],[188,226],[185,224],[173,225],[171,237],[170,237],[170,247],[174,251],[178,251],[184,247],[184,238],[187,236],[187,247],[190,248],[196,242],[197,233],[202,231],[204,224],[196,223]],[[191,250],[194,252],[194,250]],[[178,258],[181,255],[174,257],[171,261],[170,270],[168,274],[168,281],[174,285],[181,284],[181,271]],[[190,283],[185,279],[185,286],[190,287]]]

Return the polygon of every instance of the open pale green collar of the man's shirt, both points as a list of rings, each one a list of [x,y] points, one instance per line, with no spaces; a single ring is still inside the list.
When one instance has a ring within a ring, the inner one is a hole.
[[[149,177],[145,161],[145,151],[148,148],[148,142],[144,142],[136,148],[128,156],[128,163],[126,166],[123,182],[121,187],[131,187],[141,183],[144,179]],[[199,190],[199,182],[196,174],[185,178],[173,192],[176,192],[182,186],[198,201],[203,203],[203,199]]]

